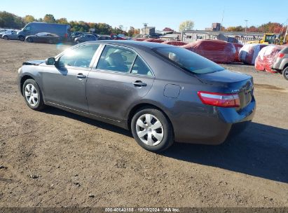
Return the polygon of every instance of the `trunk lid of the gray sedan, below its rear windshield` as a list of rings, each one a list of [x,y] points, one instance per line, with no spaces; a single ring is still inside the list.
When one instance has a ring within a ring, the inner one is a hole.
[[[252,76],[224,69],[210,74],[197,74],[196,77],[202,83],[221,88],[215,92],[238,94],[240,99],[238,110],[245,108],[252,101],[254,92]]]

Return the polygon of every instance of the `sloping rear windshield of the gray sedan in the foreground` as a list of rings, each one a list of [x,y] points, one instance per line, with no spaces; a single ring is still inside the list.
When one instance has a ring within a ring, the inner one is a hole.
[[[154,51],[167,60],[170,60],[170,62],[177,64],[178,67],[190,71],[193,74],[208,74],[224,70],[224,68],[218,64],[185,48],[155,48]]]

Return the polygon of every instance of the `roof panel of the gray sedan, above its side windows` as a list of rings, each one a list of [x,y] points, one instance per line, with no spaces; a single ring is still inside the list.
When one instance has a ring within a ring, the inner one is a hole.
[[[177,48],[175,46],[171,46],[168,44],[163,43],[156,43],[156,42],[147,42],[147,41],[132,41],[132,40],[97,40],[97,41],[86,41],[85,43],[103,43],[103,44],[115,44],[120,46],[126,46],[130,48],[161,48],[161,47],[170,47],[170,48]]]

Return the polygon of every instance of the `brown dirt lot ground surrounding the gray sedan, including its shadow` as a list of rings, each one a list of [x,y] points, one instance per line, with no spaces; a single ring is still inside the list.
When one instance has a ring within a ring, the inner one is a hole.
[[[141,149],[130,132],[18,92],[22,62],[67,46],[0,40],[0,207],[288,207],[288,81],[254,67],[254,123],[220,146]]]

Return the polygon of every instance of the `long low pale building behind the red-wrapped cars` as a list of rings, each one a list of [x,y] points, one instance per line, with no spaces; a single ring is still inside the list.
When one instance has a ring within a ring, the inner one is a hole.
[[[217,27],[217,26],[216,26]],[[247,41],[253,41],[262,39],[263,34],[257,32],[222,32],[222,31],[211,31],[211,30],[189,30],[184,31],[181,34],[181,41],[186,43],[192,43],[198,40],[205,39],[219,39],[228,41],[231,43],[247,43]]]

